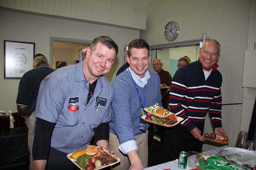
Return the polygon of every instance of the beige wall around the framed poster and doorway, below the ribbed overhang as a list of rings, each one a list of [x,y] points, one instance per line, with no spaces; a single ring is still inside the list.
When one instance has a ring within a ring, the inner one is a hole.
[[[139,38],[139,31],[110,26],[88,24],[57,18],[48,18],[0,10],[0,60],[4,61],[4,40],[35,42],[35,53],[43,53],[48,59],[50,36],[92,40],[97,36],[111,37],[119,46],[119,53],[110,73],[105,76],[112,81],[123,65],[124,45]],[[0,110],[16,112],[19,79],[4,79],[4,62],[0,62]]]

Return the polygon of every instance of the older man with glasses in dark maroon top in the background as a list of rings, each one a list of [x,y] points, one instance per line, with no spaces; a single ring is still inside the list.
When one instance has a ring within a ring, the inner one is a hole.
[[[170,87],[172,83],[172,76],[168,71],[163,70],[163,65],[164,64],[162,59],[155,59],[153,61],[153,68],[158,73],[161,84],[166,84],[166,86]],[[167,102],[168,102],[167,92],[168,92],[167,89],[161,89],[162,104],[164,109],[167,109]],[[160,136],[161,144],[164,145],[164,126],[156,125],[156,127]]]

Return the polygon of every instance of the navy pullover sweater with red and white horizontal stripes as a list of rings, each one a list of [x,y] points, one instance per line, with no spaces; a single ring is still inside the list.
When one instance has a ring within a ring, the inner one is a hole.
[[[202,64],[198,61],[182,67],[173,76],[169,96],[169,110],[175,116],[184,118],[181,125],[188,131],[204,124],[208,111],[214,128],[221,125],[221,83],[222,76],[216,69],[205,81]]]

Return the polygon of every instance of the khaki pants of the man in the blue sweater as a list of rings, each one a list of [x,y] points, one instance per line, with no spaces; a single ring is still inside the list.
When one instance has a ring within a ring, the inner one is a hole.
[[[146,133],[142,133],[141,135],[135,136],[137,145],[138,145],[138,155],[141,160],[142,166],[144,168],[148,167],[148,131]],[[123,154],[118,149],[120,145],[119,139],[116,135],[109,133],[109,149],[114,151],[114,155],[120,158],[120,164],[116,164],[117,166],[111,167],[113,170],[127,170],[131,164],[128,158],[128,155]]]

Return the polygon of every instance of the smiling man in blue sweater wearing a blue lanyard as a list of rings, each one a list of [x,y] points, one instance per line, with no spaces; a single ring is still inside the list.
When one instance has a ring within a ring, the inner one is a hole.
[[[148,127],[140,117],[143,108],[161,103],[160,79],[149,70],[149,45],[135,39],[128,45],[126,55],[130,67],[116,76],[112,86],[112,121],[109,123],[109,148],[121,159],[114,170],[143,170],[148,166]]]

